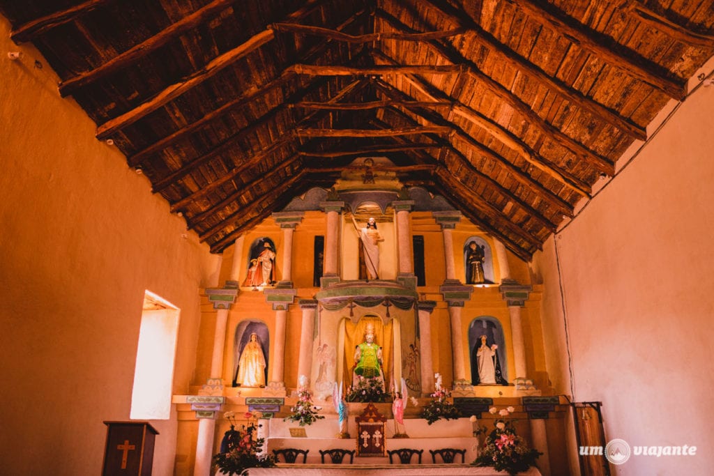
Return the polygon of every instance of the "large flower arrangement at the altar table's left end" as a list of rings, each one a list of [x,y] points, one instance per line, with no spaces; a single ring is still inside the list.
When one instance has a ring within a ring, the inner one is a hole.
[[[276,465],[274,456],[260,454],[265,440],[258,438],[256,420],[260,415],[246,412],[248,425],[236,430],[236,412],[226,412],[224,417],[231,422],[231,430],[226,432],[221,442],[221,452],[213,455],[213,463],[218,472],[225,475],[242,475],[250,467],[272,467]],[[247,474],[247,472],[246,472]]]

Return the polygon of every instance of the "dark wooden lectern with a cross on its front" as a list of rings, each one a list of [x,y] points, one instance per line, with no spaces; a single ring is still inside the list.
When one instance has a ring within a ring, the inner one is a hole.
[[[154,438],[149,422],[104,422],[106,449],[102,476],[149,476],[154,463]]]

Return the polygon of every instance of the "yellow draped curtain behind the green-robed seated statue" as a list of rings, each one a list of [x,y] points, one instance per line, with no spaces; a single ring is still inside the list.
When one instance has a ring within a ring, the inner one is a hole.
[[[353,323],[349,319],[345,319],[345,347],[344,347],[344,364],[343,364],[343,381],[345,388],[352,385],[352,370],[355,366],[354,354],[355,348],[360,343],[364,342],[364,331],[367,324],[374,325],[374,342],[382,348],[382,370],[384,372],[384,383],[386,390],[389,391],[393,379],[393,343],[394,333],[393,325],[389,323],[383,324],[381,318],[377,316],[366,315],[361,318],[358,323]]]

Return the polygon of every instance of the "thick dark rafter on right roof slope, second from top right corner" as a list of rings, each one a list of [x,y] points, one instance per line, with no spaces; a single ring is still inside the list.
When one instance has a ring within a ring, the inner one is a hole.
[[[511,0],[513,1],[513,0]],[[580,24],[562,12],[555,13],[552,8],[544,8],[541,3],[533,0],[513,1],[519,9],[532,16],[542,24],[551,25],[558,33],[568,38],[590,54],[607,61],[611,66],[627,71],[633,78],[639,79],[650,86],[663,91],[670,98],[681,101],[686,93],[686,81],[668,78],[659,65],[632,51],[628,56],[619,54],[611,45],[603,41],[602,34],[593,31],[588,26]]]

